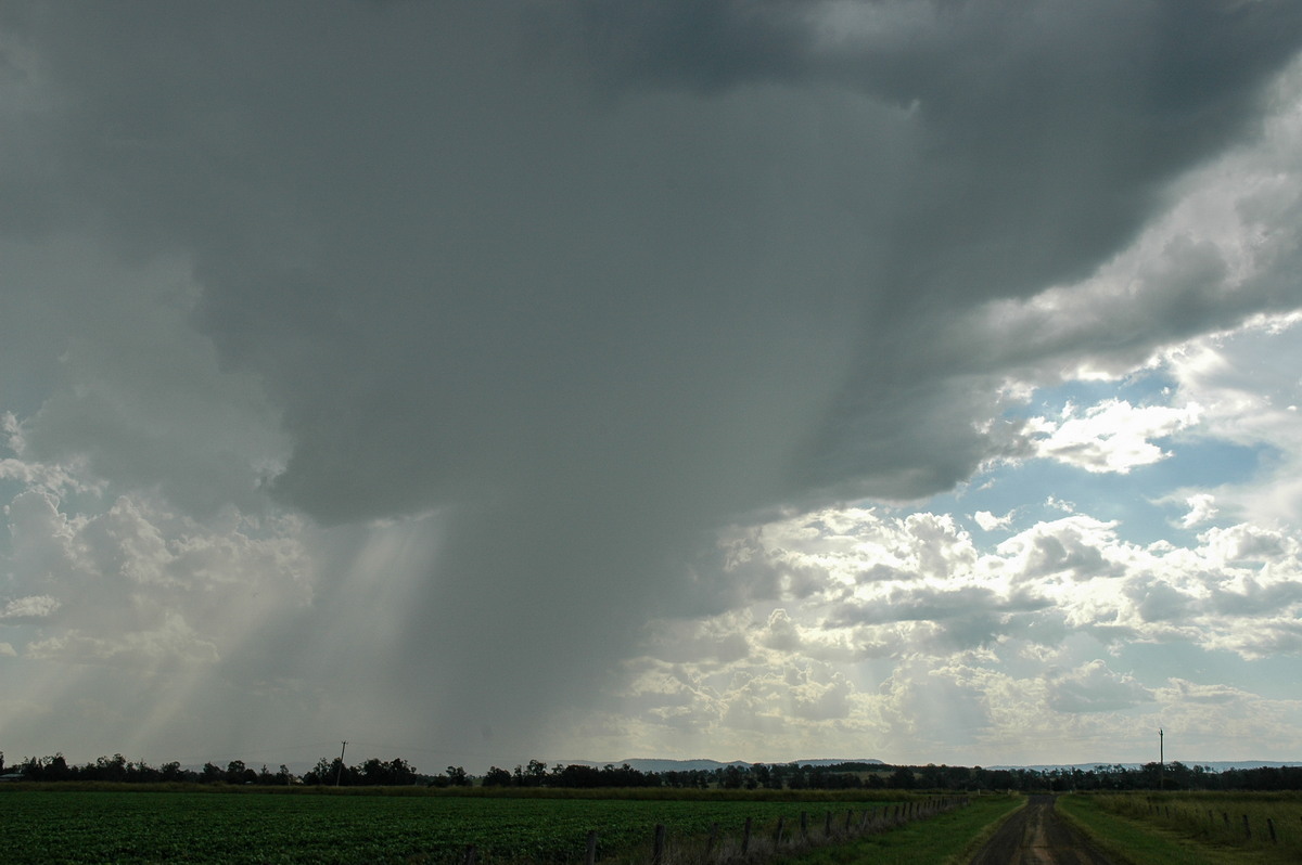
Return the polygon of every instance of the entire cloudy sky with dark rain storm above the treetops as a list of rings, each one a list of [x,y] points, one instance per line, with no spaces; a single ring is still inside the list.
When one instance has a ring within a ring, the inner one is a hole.
[[[1302,4],[0,8],[0,751],[1302,760]]]

